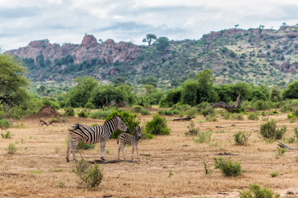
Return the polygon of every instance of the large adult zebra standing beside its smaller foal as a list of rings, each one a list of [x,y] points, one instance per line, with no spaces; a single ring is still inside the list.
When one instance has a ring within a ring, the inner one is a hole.
[[[123,132],[128,132],[128,128],[123,122],[121,116],[114,116],[112,119],[106,121],[103,125],[98,126],[86,126],[76,123],[68,129],[69,145],[66,152],[66,162],[69,162],[69,150],[72,148],[74,160],[75,149],[79,141],[86,144],[96,144],[100,142],[100,158],[105,160],[104,151],[107,141],[110,139],[112,133],[119,129]]]

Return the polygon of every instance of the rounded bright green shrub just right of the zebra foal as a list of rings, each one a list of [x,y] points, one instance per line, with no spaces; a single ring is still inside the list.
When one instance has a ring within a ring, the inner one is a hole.
[[[144,131],[153,135],[168,135],[171,132],[167,119],[159,115],[154,115],[151,121],[146,122]]]

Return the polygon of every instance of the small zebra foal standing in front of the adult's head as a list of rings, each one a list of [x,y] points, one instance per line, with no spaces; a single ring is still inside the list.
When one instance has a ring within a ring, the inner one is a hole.
[[[137,151],[137,157],[138,157],[138,161],[139,160],[139,149],[138,149],[138,144],[140,142],[140,138],[141,138],[141,135],[142,135],[142,128],[138,127],[135,132],[133,132],[132,135],[126,133],[126,132],[123,132],[119,135],[118,139],[117,139],[117,144],[119,144],[120,142],[120,145],[119,145],[119,148],[118,148],[118,160],[120,160],[120,150],[122,148],[122,153],[123,153],[123,157],[124,157],[124,160],[126,160],[125,158],[125,153],[124,153],[124,149],[125,149],[125,145],[132,145],[132,153],[131,153],[131,160],[133,160],[133,151],[134,151],[134,146],[135,146],[135,149]]]

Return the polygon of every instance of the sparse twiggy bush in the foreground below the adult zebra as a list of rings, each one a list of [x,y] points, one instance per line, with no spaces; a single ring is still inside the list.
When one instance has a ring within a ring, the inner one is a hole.
[[[99,168],[97,164],[92,166],[84,160],[75,161],[73,172],[81,180],[80,184],[84,182],[89,188],[98,186],[103,178],[102,168]]]

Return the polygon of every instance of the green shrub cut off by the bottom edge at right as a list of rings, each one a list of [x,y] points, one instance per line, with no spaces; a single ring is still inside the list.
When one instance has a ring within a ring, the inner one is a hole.
[[[279,198],[279,194],[274,195],[271,189],[266,186],[261,188],[258,184],[250,184],[248,191],[239,191],[239,193],[240,198]]]

